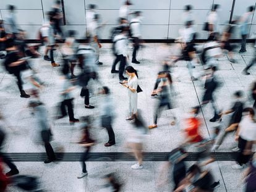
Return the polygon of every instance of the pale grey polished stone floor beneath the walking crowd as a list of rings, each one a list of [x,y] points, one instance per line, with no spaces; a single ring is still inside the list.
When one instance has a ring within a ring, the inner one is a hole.
[[[250,59],[254,57],[254,44],[247,45],[247,52],[243,54],[234,54],[237,63],[229,62],[226,53],[218,61],[220,70],[216,72],[218,80],[222,82],[221,88],[216,91],[216,103],[219,109],[229,109],[232,106],[234,91],[244,91],[244,100],[246,106],[252,106],[250,98],[250,85],[255,79],[256,67],[250,70],[251,75],[242,75],[241,71],[249,64]],[[130,49],[130,56],[131,56]],[[142,114],[143,120],[147,125],[153,123],[153,112],[155,110],[156,100],[150,97],[153,89],[156,74],[160,69],[160,61],[166,55],[177,54],[176,45],[148,43],[139,50],[137,59],[141,64],[132,66],[138,70],[139,85],[143,92],[138,96],[138,108]],[[61,62],[58,51],[55,52],[56,62]],[[111,53],[111,44],[103,44],[101,48],[100,61],[103,65],[98,68],[100,83],[91,82],[90,104],[95,109],[85,109],[83,98],[80,98],[79,88],[74,91],[74,113],[79,118],[82,115],[93,115],[95,124],[92,130],[93,138],[97,144],[93,146],[92,152],[126,152],[125,147],[127,135],[130,133],[131,124],[125,119],[128,112],[127,90],[119,85],[119,78],[116,74],[111,74],[111,65],[113,63],[113,54]],[[41,90],[41,101],[46,104],[51,117],[51,126],[53,128],[54,148],[62,146],[64,152],[82,152],[83,148],[74,144],[73,141],[79,140],[79,123],[69,124],[69,119],[54,120],[56,106],[59,102],[58,79],[59,69],[51,67],[50,62],[42,58],[33,59],[31,65],[38,72],[38,77],[45,81],[45,88]],[[176,106],[171,111],[164,111],[158,120],[158,128],[148,131],[144,140],[144,151],[146,152],[168,152],[182,143],[181,120],[190,107],[197,106],[203,93],[203,79],[191,81],[185,61],[177,63],[178,67],[173,69],[174,94],[173,102]],[[194,73],[196,77],[202,74],[201,64],[195,65]],[[79,69],[75,70],[79,73]],[[116,114],[113,128],[116,134],[116,145],[105,148],[104,143],[108,140],[106,131],[100,128],[98,123],[98,114],[100,109],[101,96],[97,93],[101,85],[108,86],[114,100],[113,110]],[[4,146],[5,152],[45,152],[43,146],[36,143],[36,122],[30,111],[27,109],[29,99],[19,97],[19,90],[15,84],[15,78],[6,73],[4,69],[0,72],[0,109],[7,124],[15,131],[12,132],[6,126],[8,138]],[[176,125],[170,125],[171,113],[176,114]],[[200,113],[202,118],[202,135],[210,138],[213,134],[213,127],[218,123],[210,123],[209,119],[213,116],[211,106],[203,107]],[[223,117],[221,126],[225,127],[229,121],[228,115]],[[220,147],[219,151],[230,152],[236,146],[234,135],[229,135]],[[195,151],[194,147],[187,148],[187,151]],[[188,162],[192,164],[192,162]],[[241,177],[244,170],[233,170],[231,165],[234,161],[217,161],[215,173],[218,175],[221,186],[216,191],[242,191]],[[81,172],[79,162],[59,162],[52,164],[43,164],[43,162],[16,162],[17,167],[22,174],[36,175],[40,178],[41,187],[46,191],[97,191],[100,188],[105,173],[117,172],[120,180],[124,183],[122,191],[171,191],[173,183],[167,186],[158,186],[157,180],[162,162],[144,162],[143,170],[132,170],[130,165],[134,162],[88,162],[88,177],[78,180],[76,177]],[[11,187],[9,191],[20,191]]]

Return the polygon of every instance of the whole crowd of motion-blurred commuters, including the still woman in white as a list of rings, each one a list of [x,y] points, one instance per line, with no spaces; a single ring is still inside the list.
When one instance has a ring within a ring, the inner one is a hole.
[[[255,121],[255,106],[256,106],[256,83],[252,82],[251,94],[254,99],[253,106],[247,106],[244,101],[243,91],[237,90],[234,93],[234,104],[226,110],[221,111],[216,105],[215,93],[222,85],[222,82],[216,78],[216,71],[219,70],[219,59],[223,55],[223,51],[228,51],[228,59],[232,63],[237,61],[234,59],[235,46],[231,44],[231,35],[234,33],[234,28],[240,25],[241,28],[241,49],[240,53],[246,52],[246,40],[249,34],[250,16],[254,13],[254,6],[250,6],[242,17],[231,21],[226,25],[222,33],[218,28],[218,10],[220,5],[214,4],[211,11],[207,15],[207,20],[202,30],[208,31],[208,39],[203,46],[198,46],[196,40],[198,33],[194,29],[193,7],[187,5],[184,9],[183,21],[184,26],[181,28],[180,37],[176,39],[176,47],[180,53],[173,56],[169,54],[163,58],[161,69],[158,72],[151,98],[158,99],[158,105],[153,112],[153,124],[145,125],[142,115],[137,107],[138,93],[142,92],[139,86],[140,74],[132,67],[132,65],[140,65],[137,60],[137,52],[142,46],[142,12],[130,11],[129,7],[132,2],[125,1],[119,9],[118,25],[111,30],[112,51],[114,61],[110,73],[118,73],[121,91],[127,90],[129,106],[129,115],[127,121],[132,126],[131,136],[127,138],[127,147],[137,161],[132,165],[132,169],[143,169],[143,141],[145,134],[154,128],[158,128],[158,117],[164,109],[168,109],[171,113],[171,125],[176,125],[177,114],[172,110],[175,107],[174,98],[176,91],[174,90],[173,69],[177,67],[179,61],[187,62],[187,69],[192,81],[205,79],[203,97],[200,99],[198,106],[191,107],[187,115],[184,115],[181,120],[181,130],[184,135],[184,140],[179,143],[173,151],[169,152],[168,159],[163,165],[160,172],[158,185],[164,185],[167,181],[169,169],[173,170],[173,191],[214,191],[215,188],[221,185],[220,178],[216,176],[218,167],[215,153],[220,148],[220,145],[225,142],[225,138],[229,133],[235,133],[234,143],[237,147],[233,149],[237,152],[235,159],[236,164],[233,169],[244,169],[245,191],[256,191],[256,155],[253,152],[254,144],[256,143],[256,121]],[[89,154],[96,141],[90,134],[92,130],[92,118],[85,112],[85,116],[77,117],[74,113],[74,94],[75,88],[80,88],[80,96],[84,98],[85,109],[94,109],[95,106],[90,104],[90,81],[94,81],[100,85],[98,94],[103,97],[103,103],[100,106],[100,122],[101,127],[106,128],[109,139],[105,143],[105,147],[111,147],[117,141],[113,129],[113,120],[115,112],[113,109],[114,101],[111,90],[107,85],[103,85],[100,80],[99,71],[101,70],[100,62],[100,30],[104,24],[100,23],[100,15],[96,11],[96,5],[88,5],[86,11],[87,20],[87,36],[82,43],[76,40],[76,31],[70,30],[65,34],[61,28],[61,1],[56,1],[51,11],[48,12],[42,27],[39,31],[38,44],[29,44],[25,38],[25,31],[19,28],[15,19],[15,6],[8,7],[9,15],[6,20],[0,23],[0,57],[1,63],[7,73],[14,75],[17,78],[17,85],[20,91],[21,98],[28,98],[28,107],[31,110],[33,118],[37,122],[37,134],[40,136],[41,143],[45,146],[47,159],[45,164],[60,161],[51,146],[51,137],[53,135],[51,125],[49,123],[48,109],[40,99],[40,91],[45,85],[33,69],[31,62],[34,58],[43,57],[45,61],[51,62],[52,67],[59,67],[59,102],[60,114],[56,115],[55,120],[63,119],[68,115],[69,123],[81,123],[81,139],[77,141],[85,151],[80,157],[82,164],[81,174],[77,178],[83,178],[88,175],[85,161],[89,158]],[[129,44],[132,44],[132,57],[129,57]],[[41,51],[44,49],[43,51]],[[54,59],[54,51],[61,52],[61,63],[56,63]],[[49,56],[48,56],[49,52]],[[256,57],[255,57],[256,58]],[[250,75],[248,70],[254,65],[256,59],[253,59],[247,67],[242,70],[244,75]],[[130,62],[132,65],[129,65]],[[196,77],[197,64],[202,63],[204,67],[203,74]],[[117,70],[117,64],[119,68]],[[75,66],[79,67],[80,73],[75,74]],[[114,77],[114,76],[113,76]],[[210,122],[221,122],[223,115],[232,114],[228,123],[228,127],[215,127],[211,138],[206,138],[200,130],[202,120],[198,117],[200,111],[211,103],[213,108],[213,117]],[[169,117],[168,117],[169,118]],[[4,117],[0,114],[0,119],[4,121]],[[0,146],[6,138],[4,128],[0,129]],[[197,162],[187,167],[185,161],[189,155],[186,152],[188,146],[194,146],[197,150]],[[0,187],[4,191],[9,183],[19,183],[19,168],[6,156],[0,152],[1,161],[4,162],[11,170],[6,174],[2,173],[0,167]],[[217,165],[216,165],[217,164]],[[30,177],[30,180],[33,178]],[[121,184],[117,182],[114,173],[105,176],[106,186],[104,191],[119,191]],[[17,182],[18,181],[18,182]],[[24,184],[24,183],[23,183]],[[27,184],[27,183],[25,183]],[[24,185],[25,185],[24,184]]]

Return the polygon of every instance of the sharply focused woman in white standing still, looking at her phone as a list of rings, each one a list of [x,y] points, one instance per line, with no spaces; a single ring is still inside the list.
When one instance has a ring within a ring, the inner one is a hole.
[[[126,67],[126,73],[129,75],[128,81],[122,81],[122,85],[128,88],[128,96],[129,96],[129,115],[126,120],[132,120],[135,117],[138,117],[137,113],[137,102],[138,102],[138,74],[137,70],[132,66]]]

